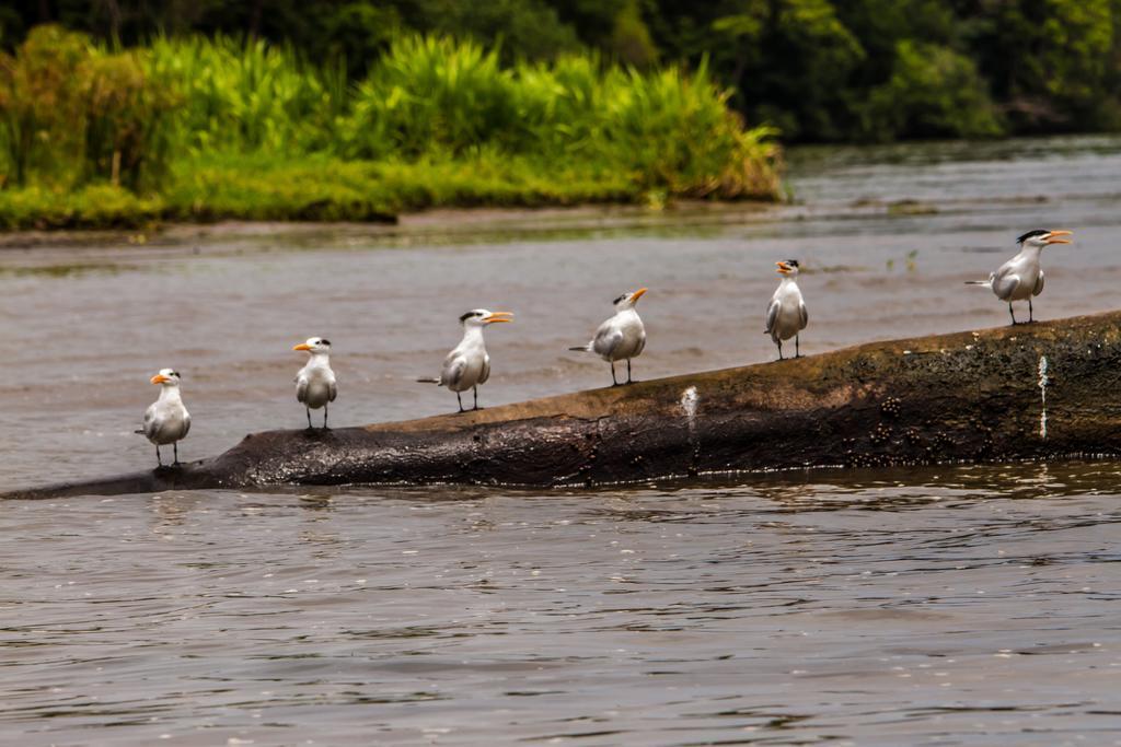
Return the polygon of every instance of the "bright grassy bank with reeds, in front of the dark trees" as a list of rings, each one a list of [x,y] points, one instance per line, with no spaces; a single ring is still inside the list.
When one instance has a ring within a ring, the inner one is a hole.
[[[0,225],[775,198],[773,131],[729,96],[705,64],[506,63],[447,36],[397,37],[352,80],[261,39],[39,26],[0,58]]]

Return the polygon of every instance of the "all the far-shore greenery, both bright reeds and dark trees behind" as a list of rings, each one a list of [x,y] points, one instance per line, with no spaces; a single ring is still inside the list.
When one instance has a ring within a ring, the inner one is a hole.
[[[775,198],[784,142],[1121,131],[1121,0],[11,0],[0,226]]]

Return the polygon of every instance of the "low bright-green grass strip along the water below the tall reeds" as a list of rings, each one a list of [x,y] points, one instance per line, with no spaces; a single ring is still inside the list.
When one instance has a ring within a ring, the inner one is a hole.
[[[0,227],[138,227],[159,221],[389,221],[435,207],[544,207],[629,203],[649,196],[626,177],[571,168],[546,172],[524,160],[343,161],[311,157],[276,164],[261,156],[180,164],[165,192],[141,198],[87,185],[0,190]]]

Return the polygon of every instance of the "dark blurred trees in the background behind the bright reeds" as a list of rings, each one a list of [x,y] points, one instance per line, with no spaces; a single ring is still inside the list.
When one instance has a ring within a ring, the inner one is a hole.
[[[1121,128],[1121,0],[8,0],[0,46],[44,22],[126,46],[266,39],[349,82],[418,32],[472,40],[503,68],[704,59],[747,121],[788,140]]]

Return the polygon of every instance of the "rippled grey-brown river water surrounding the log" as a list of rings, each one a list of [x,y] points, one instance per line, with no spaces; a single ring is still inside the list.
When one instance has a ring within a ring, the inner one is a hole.
[[[1121,139],[791,153],[770,207],[450,213],[0,250],[0,489],[298,428],[445,412],[415,383],[485,307],[484,405],[599,386],[568,353],[648,287],[640,379],[1007,324],[981,279],[1036,227],[1036,317],[1118,306]],[[140,242],[143,243],[140,243]],[[54,242],[61,243],[61,242]],[[1018,314],[1026,314],[1026,309]],[[1108,393],[1115,395],[1117,393]],[[819,470],[626,491],[346,488],[6,502],[0,743],[1121,745],[1121,465]]]

